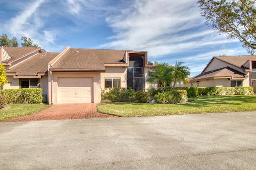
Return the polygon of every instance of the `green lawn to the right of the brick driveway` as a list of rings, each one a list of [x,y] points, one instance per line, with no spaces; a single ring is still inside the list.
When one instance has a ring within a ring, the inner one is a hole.
[[[113,103],[97,106],[100,113],[121,117],[256,111],[256,96],[199,96],[187,104]]]

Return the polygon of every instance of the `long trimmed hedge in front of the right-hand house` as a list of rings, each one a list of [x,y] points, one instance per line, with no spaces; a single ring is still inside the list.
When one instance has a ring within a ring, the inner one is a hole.
[[[204,95],[253,95],[252,87],[199,87],[198,94]]]

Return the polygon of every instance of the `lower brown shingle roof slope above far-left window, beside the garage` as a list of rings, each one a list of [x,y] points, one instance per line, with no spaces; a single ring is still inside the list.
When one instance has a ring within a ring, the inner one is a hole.
[[[48,63],[58,54],[59,53],[38,53],[30,59],[6,70],[6,73],[17,73],[18,75],[46,73],[48,71]]]

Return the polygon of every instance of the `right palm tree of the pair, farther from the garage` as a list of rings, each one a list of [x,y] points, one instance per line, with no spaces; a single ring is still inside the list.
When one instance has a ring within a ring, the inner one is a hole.
[[[176,62],[175,66],[173,66],[173,80],[174,80],[174,84],[172,87],[172,90],[174,90],[175,84],[176,82],[184,82],[185,80],[188,79],[189,77],[189,72],[190,69],[187,66],[183,66],[184,62]]]

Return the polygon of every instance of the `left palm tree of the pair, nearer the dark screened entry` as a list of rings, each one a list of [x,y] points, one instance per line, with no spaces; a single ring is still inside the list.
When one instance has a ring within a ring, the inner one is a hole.
[[[152,71],[149,73],[149,78],[146,80],[149,83],[158,82],[162,88],[162,92],[164,93],[164,84],[170,82],[172,78],[172,69],[168,66],[168,64],[156,64]]]

